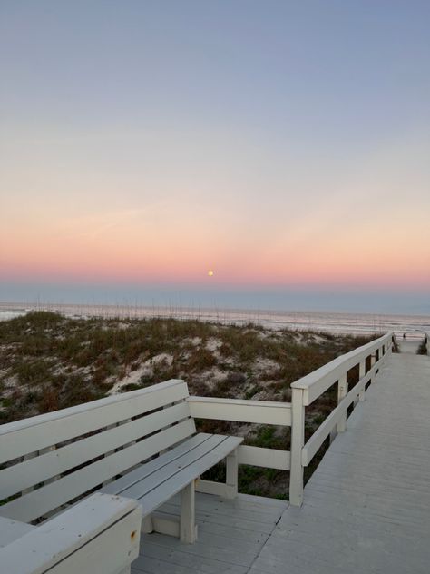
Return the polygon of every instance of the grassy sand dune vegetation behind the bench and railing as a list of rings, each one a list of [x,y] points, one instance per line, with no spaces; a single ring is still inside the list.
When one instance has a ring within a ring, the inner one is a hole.
[[[30,312],[0,322],[0,421],[16,421],[169,379],[191,395],[290,401],[290,384],[371,337],[270,330],[175,319],[66,318]],[[370,364],[366,365],[366,370]],[[358,369],[348,383],[358,381]],[[307,409],[310,436],[337,404],[334,384]],[[289,450],[290,430],[197,421],[199,431],[243,436],[245,444]],[[324,450],[318,452],[322,457]],[[314,460],[306,477],[316,466]],[[205,478],[219,480],[222,464]],[[288,472],[240,465],[239,490],[285,498]]]

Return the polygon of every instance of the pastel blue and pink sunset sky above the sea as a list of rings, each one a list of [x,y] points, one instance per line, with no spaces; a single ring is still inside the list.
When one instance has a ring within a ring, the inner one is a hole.
[[[0,0],[0,301],[430,312],[429,21]]]

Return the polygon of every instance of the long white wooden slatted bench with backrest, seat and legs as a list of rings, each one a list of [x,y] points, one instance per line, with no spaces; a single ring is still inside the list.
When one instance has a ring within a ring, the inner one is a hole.
[[[137,500],[145,531],[193,542],[195,480],[227,460],[237,493],[239,437],[196,434],[183,381],[89,402],[0,427],[0,516],[37,523],[100,490]],[[181,492],[181,518],[152,512]],[[151,523],[152,522],[152,523]]]

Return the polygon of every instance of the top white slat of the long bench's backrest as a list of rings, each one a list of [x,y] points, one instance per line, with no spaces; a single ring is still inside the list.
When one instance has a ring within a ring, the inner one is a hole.
[[[0,427],[0,464],[87,432],[126,421],[188,397],[183,381],[165,381],[140,391],[107,397]]]

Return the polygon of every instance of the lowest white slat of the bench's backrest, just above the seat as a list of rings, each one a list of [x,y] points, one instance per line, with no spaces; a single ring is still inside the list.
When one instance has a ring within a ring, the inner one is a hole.
[[[194,433],[194,421],[192,419],[182,421],[146,440],[6,503],[1,507],[1,513],[8,518],[31,522],[92,490],[104,480],[109,480],[116,474],[132,468],[140,460],[146,460]]]

